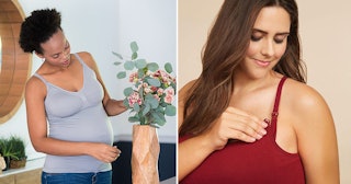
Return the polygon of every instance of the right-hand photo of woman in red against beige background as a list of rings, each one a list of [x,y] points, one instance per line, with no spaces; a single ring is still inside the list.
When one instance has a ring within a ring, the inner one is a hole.
[[[178,0],[180,184],[351,183],[351,2]]]

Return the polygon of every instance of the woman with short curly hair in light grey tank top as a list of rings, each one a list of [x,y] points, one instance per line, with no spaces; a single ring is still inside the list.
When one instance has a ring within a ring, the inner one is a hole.
[[[126,107],[110,97],[89,53],[70,53],[60,23],[55,9],[33,11],[19,41],[43,59],[25,88],[31,141],[46,153],[42,183],[111,183],[121,150],[112,146],[109,116]]]

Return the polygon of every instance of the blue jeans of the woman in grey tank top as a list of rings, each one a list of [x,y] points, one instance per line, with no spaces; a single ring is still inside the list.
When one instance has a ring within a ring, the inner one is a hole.
[[[111,184],[112,171],[99,173],[42,173],[42,184]]]

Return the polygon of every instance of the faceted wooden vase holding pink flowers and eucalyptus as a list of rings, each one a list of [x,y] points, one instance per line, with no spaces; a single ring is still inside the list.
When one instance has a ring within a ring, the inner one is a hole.
[[[128,76],[132,83],[124,90],[124,105],[129,110],[128,122],[133,126],[132,181],[133,183],[159,183],[158,157],[160,146],[156,128],[166,124],[165,116],[176,116],[172,105],[176,95],[176,78],[171,64],[159,69],[157,62],[138,58],[138,45],[131,43],[132,57],[124,59],[113,53],[123,64],[124,70],[117,73],[118,79]]]

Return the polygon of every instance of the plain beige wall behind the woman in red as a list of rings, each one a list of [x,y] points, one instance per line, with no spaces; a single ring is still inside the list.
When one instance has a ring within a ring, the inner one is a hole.
[[[201,72],[200,53],[223,0],[178,1],[180,89]],[[297,0],[297,3],[308,84],[329,104],[337,128],[341,183],[351,183],[351,1]]]

